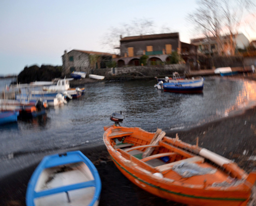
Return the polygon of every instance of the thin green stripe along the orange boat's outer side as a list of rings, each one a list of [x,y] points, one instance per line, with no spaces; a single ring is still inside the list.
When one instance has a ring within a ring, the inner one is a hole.
[[[123,166],[121,166],[118,162],[116,162],[116,160],[111,157],[114,162],[119,166],[121,167],[123,170],[126,171],[126,173],[128,173],[129,175],[131,175],[132,177],[134,177],[135,179],[149,185],[149,186],[152,186],[152,187],[155,187],[155,188],[158,188],[159,190],[162,190],[164,192],[168,192],[168,193],[172,193],[174,195],[180,195],[180,196],[184,196],[184,197],[191,197],[191,198],[197,198],[197,199],[209,199],[209,200],[225,200],[225,201],[246,201],[247,199],[242,199],[242,198],[219,198],[219,197],[201,197],[201,196],[194,196],[194,195],[186,195],[186,194],[182,194],[182,193],[176,193],[176,192],[173,192],[173,191],[170,191],[170,190],[166,190],[164,188],[161,188],[159,186],[156,186],[154,184],[151,184],[149,182],[146,182],[138,177],[136,177],[135,175],[131,174],[128,170],[126,170]]]

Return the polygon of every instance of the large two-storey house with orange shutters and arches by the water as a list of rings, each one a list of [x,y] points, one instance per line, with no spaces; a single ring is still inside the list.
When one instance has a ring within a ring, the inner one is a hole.
[[[141,35],[125,37],[120,40],[120,55],[113,56],[118,67],[140,65],[140,57],[147,55],[147,64],[170,61],[172,52],[180,53],[181,44],[178,33],[161,33],[158,35]]]

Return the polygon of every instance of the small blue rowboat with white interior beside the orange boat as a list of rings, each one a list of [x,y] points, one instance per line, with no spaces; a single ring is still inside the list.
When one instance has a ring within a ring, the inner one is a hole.
[[[27,206],[98,205],[101,181],[81,151],[44,157],[29,180]]]

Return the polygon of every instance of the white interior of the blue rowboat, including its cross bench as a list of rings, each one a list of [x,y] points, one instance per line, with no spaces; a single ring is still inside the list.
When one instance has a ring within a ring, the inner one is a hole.
[[[92,181],[94,177],[84,162],[46,168],[35,186],[39,194],[35,205],[88,205],[94,198],[95,187],[83,187],[82,184]]]

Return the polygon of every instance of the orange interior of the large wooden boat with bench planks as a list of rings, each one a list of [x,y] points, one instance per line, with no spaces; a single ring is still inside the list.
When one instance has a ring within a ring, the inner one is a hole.
[[[173,139],[164,136],[156,145],[150,145],[155,133],[141,130],[140,128],[116,128],[108,134],[111,146],[119,151],[123,158],[136,163],[138,166],[151,173],[161,173],[163,177],[174,181],[204,187],[215,184],[221,185],[227,182],[231,185],[234,180],[240,179],[239,172],[218,168],[201,156],[197,156],[185,149],[178,148],[172,144]],[[165,133],[164,133],[165,134]],[[152,148],[152,153],[143,158],[143,153]],[[176,173],[172,168],[180,163],[195,163],[201,168],[212,168],[214,173],[195,175],[189,178]]]

